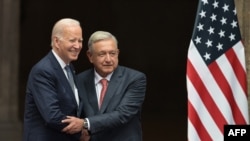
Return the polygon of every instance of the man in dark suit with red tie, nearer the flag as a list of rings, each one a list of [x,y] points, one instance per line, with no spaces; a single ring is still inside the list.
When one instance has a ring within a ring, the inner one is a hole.
[[[117,39],[109,32],[93,33],[88,47],[87,56],[94,68],[80,73],[77,81],[90,140],[142,141],[140,112],[146,93],[145,74],[118,65]],[[101,101],[103,78],[108,86]]]

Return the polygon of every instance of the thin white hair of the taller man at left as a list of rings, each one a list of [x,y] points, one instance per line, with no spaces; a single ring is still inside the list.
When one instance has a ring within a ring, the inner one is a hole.
[[[51,33],[51,46],[53,46],[53,37],[56,36],[58,38],[62,38],[65,27],[69,26],[81,26],[81,25],[79,21],[71,18],[64,18],[55,23]]]

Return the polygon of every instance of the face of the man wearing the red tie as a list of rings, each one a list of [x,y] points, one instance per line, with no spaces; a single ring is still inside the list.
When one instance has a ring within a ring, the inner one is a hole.
[[[89,61],[93,63],[97,73],[106,77],[118,66],[119,49],[113,39],[100,40],[92,45],[92,50],[87,51]]]

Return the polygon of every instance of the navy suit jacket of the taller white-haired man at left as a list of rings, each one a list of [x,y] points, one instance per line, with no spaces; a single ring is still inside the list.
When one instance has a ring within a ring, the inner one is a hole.
[[[61,120],[66,115],[77,116],[78,111],[67,77],[50,51],[29,74],[23,141],[77,141],[80,133],[61,132],[66,126]]]

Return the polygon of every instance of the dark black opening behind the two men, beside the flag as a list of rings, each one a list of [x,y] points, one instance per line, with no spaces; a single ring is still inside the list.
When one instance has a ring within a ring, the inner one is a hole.
[[[186,58],[198,0],[22,0],[20,119],[31,67],[51,49],[54,23],[75,18],[83,27],[77,73],[91,67],[85,52],[96,30],[113,33],[121,65],[146,73],[144,141],[187,140]]]

